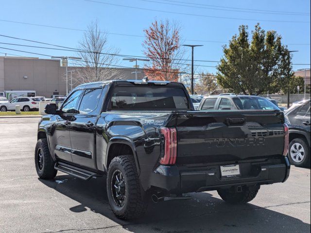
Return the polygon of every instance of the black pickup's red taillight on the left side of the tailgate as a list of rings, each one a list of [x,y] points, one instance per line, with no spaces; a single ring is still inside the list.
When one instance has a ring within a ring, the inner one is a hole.
[[[177,157],[177,131],[175,128],[161,127],[164,136],[164,156],[160,159],[161,165],[174,165]]]

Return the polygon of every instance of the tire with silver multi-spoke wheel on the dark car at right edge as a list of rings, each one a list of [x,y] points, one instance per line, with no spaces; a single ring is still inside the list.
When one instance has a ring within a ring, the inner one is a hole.
[[[310,147],[303,138],[295,138],[291,141],[288,154],[294,166],[310,166]]]

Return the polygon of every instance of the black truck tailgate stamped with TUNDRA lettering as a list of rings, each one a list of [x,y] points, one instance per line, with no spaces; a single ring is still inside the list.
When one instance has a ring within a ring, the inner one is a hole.
[[[275,111],[176,113],[177,165],[225,163],[283,154],[284,115]]]

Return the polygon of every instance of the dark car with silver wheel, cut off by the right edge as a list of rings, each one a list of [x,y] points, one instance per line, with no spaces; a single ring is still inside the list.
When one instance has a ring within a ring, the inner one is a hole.
[[[310,100],[301,101],[285,113],[289,126],[289,158],[295,166],[310,166]]]

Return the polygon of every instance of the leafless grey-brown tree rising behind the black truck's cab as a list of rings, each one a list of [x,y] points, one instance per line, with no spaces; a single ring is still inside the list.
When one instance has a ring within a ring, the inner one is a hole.
[[[107,32],[99,28],[97,20],[87,26],[78,45],[78,55],[82,60],[76,62],[81,66],[74,75],[76,83],[109,80],[120,74],[118,68],[113,66],[119,64],[118,56],[115,55],[119,49],[109,46],[107,38]]]

